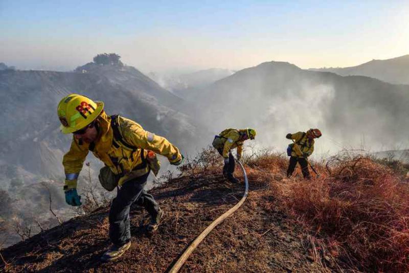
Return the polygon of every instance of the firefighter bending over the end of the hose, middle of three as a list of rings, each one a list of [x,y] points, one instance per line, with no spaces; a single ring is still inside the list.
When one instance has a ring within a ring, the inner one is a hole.
[[[238,183],[239,180],[233,175],[235,164],[231,150],[237,147],[237,160],[240,160],[243,142],[248,139],[254,140],[255,137],[256,130],[250,128],[239,130],[229,128],[215,135],[212,145],[224,158],[223,176],[232,183]]]

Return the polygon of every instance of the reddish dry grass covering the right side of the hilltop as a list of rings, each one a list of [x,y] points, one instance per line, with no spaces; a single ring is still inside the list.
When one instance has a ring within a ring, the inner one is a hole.
[[[311,181],[276,183],[289,214],[324,239],[342,267],[409,271],[409,185],[392,169],[368,157],[332,162]],[[283,156],[259,157],[249,165],[283,173]]]

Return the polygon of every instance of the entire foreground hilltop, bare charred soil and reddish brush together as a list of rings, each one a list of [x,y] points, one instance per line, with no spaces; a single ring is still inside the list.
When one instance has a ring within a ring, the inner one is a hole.
[[[299,173],[285,178],[287,158],[282,155],[266,152],[244,161],[247,200],[198,246],[181,272],[409,268],[409,209],[402,201],[409,190],[401,173],[368,157],[338,157],[327,165],[317,164],[323,175],[305,181]],[[206,226],[241,198],[243,184],[224,180],[220,167],[216,155],[203,151],[180,168],[183,176],[169,177],[152,189],[165,211],[163,222],[150,237],[146,212],[132,208],[132,245],[117,261],[100,262],[109,246],[109,208],[101,207],[3,249],[3,268],[167,271]]]

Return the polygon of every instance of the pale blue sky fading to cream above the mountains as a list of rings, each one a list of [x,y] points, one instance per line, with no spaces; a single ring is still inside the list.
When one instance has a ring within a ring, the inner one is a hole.
[[[143,72],[354,66],[409,54],[408,14],[408,0],[0,0],[0,62],[64,71],[115,52]]]

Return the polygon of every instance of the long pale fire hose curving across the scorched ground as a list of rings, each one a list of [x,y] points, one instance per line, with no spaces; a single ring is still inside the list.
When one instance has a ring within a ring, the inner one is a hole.
[[[176,273],[179,271],[180,267],[185,263],[185,261],[189,258],[190,254],[196,249],[196,247],[200,244],[200,242],[205,239],[205,237],[224,219],[232,215],[240,206],[244,203],[245,199],[247,198],[248,195],[248,180],[247,180],[247,174],[246,171],[244,170],[243,165],[241,164],[240,161],[237,161],[241,167],[241,170],[243,171],[244,175],[244,183],[245,183],[245,190],[244,190],[244,195],[240,199],[240,201],[235,204],[233,208],[230,210],[226,211],[223,213],[219,218],[214,220],[204,231],[202,231],[199,236],[196,237],[196,239],[189,245],[188,248],[186,248],[186,251],[180,255],[179,259],[175,262],[175,264],[172,266],[172,268],[169,270],[169,273]]]

